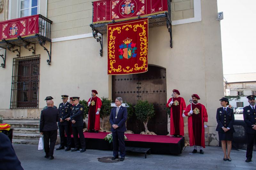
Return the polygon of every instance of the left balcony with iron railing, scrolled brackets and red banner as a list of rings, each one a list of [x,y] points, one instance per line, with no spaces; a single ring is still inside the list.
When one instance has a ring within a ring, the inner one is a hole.
[[[20,47],[23,46],[31,51],[32,55],[35,55],[37,43],[47,52],[49,59],[46,62],[50,65],[51,24],[51,20],[40,14],[0,22],[0,47],[5,49],[5,55],[0,55],[3,59],[1,67],[5,68],[6,49],[20,57]],[[46,41],[50,43],[50,50],[45,47]]]

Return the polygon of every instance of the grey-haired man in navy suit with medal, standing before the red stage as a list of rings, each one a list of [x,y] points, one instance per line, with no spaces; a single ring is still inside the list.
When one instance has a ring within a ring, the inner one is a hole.
[[[124,160],[125,156],[125,144],[124,144],[124,132],[126,131],[125,121],[127,119],[127,109],[122,106],[123,99],[121,97],[116,98],[116,107],[112,108],[109,117],[109,122],[112,126],[112,139],[113,139],[113,158],[118,159],[118,146],[121,159]]]

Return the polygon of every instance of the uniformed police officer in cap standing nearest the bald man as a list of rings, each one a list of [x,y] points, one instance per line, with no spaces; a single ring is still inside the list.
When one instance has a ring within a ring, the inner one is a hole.
[[[72,104],[68,103],[68,95],[62,95],[61,96],[63,103],[60,103],[59,105],[59,112],[60,112],[60,122],[58,122],[59,125],[59,130],[60,130],[60,147],[57,148],[56,150],[61,150],[65,149],[64,148],[64,137],[65,133],[67,134],[67,148],[65,151],[71,150],[70,145],[71,145],[71,134],[69,130],[69,121],[66,121],[72,111]]]

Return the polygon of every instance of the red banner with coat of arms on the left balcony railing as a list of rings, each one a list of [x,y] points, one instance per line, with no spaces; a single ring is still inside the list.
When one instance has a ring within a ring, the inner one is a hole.
[[[38,17],[39,15],[32,15],[0,22],[0,41],[35,35],[39,32]]]

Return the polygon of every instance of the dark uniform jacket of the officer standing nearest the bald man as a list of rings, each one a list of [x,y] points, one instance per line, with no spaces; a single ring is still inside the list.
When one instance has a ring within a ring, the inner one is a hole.
[[[60,103],[59,105],[60,118],[64,122],[59,122],[58,125],[69,125],[69,122],[65,121],[65,119],[70,117],[71,111],[72,111],[72,104],[67,102],[65,106],[63,106],[63,103]]]

